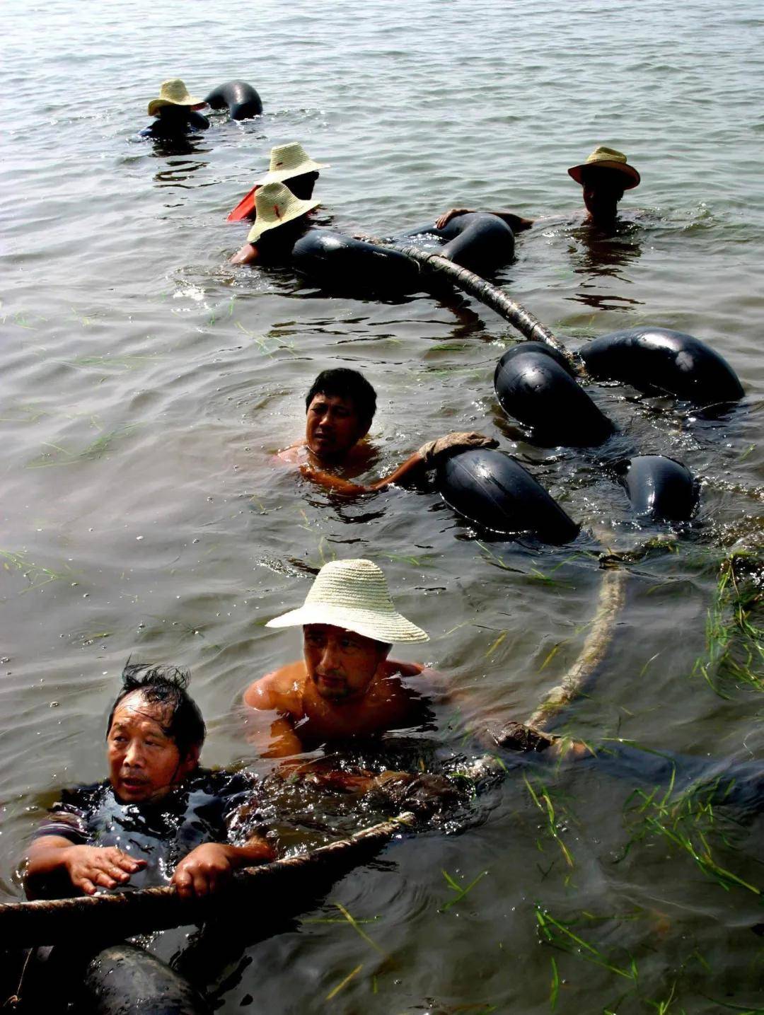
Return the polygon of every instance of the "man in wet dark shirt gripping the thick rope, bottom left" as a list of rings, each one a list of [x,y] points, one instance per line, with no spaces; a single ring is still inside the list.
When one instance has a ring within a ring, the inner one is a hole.
[[[167,881],[201,896],[273,859],[259,831],[226,841],[253,786],[199,766],[205,726],[187,684],[171,667],[125,667],[107,724],[109,779],[64,794],[38,829],[25,857],[31,897]]]

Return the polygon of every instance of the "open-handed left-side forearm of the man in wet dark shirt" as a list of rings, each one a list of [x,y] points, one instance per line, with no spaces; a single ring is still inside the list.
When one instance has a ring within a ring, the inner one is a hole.
[[[127,884],[146,866],[117,847],[78,845],[63,835],[37,838],[26,853],[24,881],[29,898],[40,897],[46,880],[65,874],[74,888],[93,895],[96,888]]]

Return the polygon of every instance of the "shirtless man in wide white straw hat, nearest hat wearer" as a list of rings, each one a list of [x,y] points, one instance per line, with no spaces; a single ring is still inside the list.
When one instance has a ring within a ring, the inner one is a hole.
[[[325,564],[302,606],[266,626],[301,626],[303,659],[266,674],[245,692],[247,705],[269,714],[265,756],[287,757],[327,741],[418,722],[422,698],[405,681],[424,667],[388,655],[393,644],[429,637],[396,610],[385,576],[370,560]]]

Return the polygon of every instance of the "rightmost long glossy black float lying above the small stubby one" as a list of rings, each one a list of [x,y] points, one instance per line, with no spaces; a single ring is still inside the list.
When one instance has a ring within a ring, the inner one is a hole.
[[[728,404],[743,387],[725,359],[692,335],[668,328],[631,328],[596,338],[580,350],[595,378],[665,392],[697,406]]]

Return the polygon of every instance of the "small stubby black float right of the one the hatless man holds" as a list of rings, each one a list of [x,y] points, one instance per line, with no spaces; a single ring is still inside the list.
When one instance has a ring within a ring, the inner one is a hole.
[[[693,474],[673,458],[636,455],[616,466],[635,513],[662,522],[687,522],[698,502]]]

